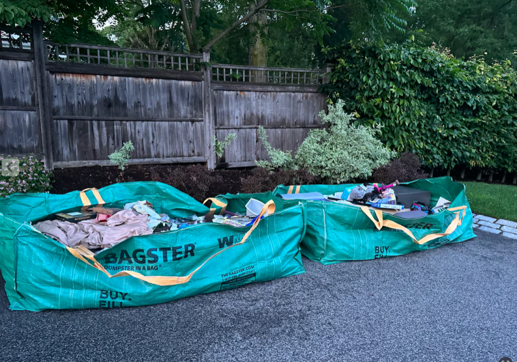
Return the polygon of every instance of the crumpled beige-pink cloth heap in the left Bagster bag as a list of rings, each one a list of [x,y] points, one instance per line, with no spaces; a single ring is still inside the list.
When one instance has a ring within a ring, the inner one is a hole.
[[[85,220],[79,223],[47,220],[34,225],[43,234],[67,245],[82,245],[88,249],[111,248],[131,236],[152,234],[147,226],[147,215],[135,215],[131,210],[122,210],[111,216],[105,223]]]

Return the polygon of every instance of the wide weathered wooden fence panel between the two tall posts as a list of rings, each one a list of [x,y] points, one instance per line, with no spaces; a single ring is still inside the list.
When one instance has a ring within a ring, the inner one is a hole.
[[[131,140],[132,158],[204,156],[202,83],[49,73],[54,161],[107,160]]]

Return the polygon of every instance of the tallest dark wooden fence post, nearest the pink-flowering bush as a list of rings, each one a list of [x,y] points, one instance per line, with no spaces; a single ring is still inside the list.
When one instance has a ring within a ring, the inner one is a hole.
[[[50,89],[45,71],[45,44],[43,41],[43,22],[35,20],[32,23],[32,44],[34,50],[34,68],[36,70],[36,97],[38,98],[38,114],[41,124],[41,139],[45,168],[54,168],[52,155],[52,107],[50,105]]]

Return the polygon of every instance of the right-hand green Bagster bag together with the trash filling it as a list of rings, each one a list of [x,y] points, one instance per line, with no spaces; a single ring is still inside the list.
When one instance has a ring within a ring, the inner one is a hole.
[[[308,199],[303,256],[322,264],[434,249],[475,236],[465,186],[450,177],[407,183],[279,185],[272,192]],[[397,232],[393,232],[397,231]]]

